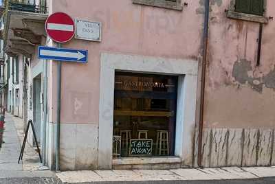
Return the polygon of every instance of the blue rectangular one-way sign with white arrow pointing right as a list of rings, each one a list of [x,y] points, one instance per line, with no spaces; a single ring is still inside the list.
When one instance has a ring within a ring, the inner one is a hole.
[[[88,51],[80,49],[62,49],[39,46],[39,59],[87,62]]]

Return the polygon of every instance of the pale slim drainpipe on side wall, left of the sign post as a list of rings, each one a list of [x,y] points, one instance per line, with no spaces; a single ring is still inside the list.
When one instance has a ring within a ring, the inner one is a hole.
[[[43,76],[44,76],[44,91],[43,91],[43,98],[44,98],[44,103],[43,103],[43,110],[44,110],[44,120],[43,120],[43,140],[42,140],[42,163],[43,165],[46,165],[46,129],[47,129],[47,60],[43,60]]]

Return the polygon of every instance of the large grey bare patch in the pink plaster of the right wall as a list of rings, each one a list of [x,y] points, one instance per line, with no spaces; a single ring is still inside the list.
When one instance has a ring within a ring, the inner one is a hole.
[[[251,61],[243,59],[234,62],[232,76],[239,84],[249,84],[254,91],[259,93],[263,92],[264,86],[275,90],[275,67],[270,73],[261,78],[249,76],[250,71],[252,71]]]

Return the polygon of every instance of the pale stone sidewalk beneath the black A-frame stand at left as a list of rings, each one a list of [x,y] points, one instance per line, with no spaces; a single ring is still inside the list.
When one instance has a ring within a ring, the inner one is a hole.
[[[23,161],[18,162],[23,142],[23,119],[5,114],[5,130],[0,148],[0,179],[14,177],[53,177],[50,171],[39,171],[39,155],[29,143],[25,145]]]

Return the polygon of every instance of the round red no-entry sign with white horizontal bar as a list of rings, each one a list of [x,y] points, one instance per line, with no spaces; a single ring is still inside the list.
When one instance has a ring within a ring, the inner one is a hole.
[[[51,14],[45,23],[47,35],[57,43],[65,43],[74,37],[75,25],[71,16],[57,12]]]

